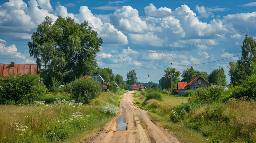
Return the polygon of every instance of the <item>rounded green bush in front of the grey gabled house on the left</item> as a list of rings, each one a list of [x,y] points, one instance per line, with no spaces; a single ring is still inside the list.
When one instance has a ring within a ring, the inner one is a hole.
[[[102,84],[93,78],[80,77],[67,84],[65,89],[70,93],[70,99],[88,104],[100,95]]]

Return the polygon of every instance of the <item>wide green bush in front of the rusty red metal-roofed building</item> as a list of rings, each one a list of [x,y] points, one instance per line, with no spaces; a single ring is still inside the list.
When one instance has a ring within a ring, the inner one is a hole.
[[[16,77],[9,74],[1,80],[0,103],[13,101],[18,104],[20,101],[35,101],[45,93],[47,88],[39,83],[39,74],[27,73],[17,74]],[[11,104],[13,104],[13,102]]]

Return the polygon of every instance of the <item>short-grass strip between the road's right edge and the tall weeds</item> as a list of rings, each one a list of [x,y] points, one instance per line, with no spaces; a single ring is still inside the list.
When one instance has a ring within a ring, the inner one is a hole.
[[[155,121],[159,122],[165,128],[177,135],[182,142],[186,143],[202,143],[209,142],[202,134],[184,127],[182,123],[170,122],[170,113],[175,107],[187,102],[186,97],[169,96],[162,94],[163,101],[149,99],[143,104],[144,96],[140,91],[133,94],[134,102],[141,109],[148,111],[148,115]]]

